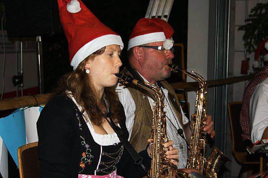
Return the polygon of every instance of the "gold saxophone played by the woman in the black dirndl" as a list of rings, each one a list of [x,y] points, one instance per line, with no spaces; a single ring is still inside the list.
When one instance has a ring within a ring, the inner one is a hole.
[[[163,146],[168,142],[168,136],[166,134],[166,117],[165,117],[165,105],[163,103],[163,95],[159,87],[152,86],[147,82],[140,82],[124,73],[116,74],[119,78],[119,82],[122,84],[133,83],[136,86],[145,89],[154,95],[155,102],[153,104],[153,118],[152,118],[152,148],[151,148],[151,178],[171,178],[172,174],[175,177],[188,178],[188,174],[183,171],[177,171],[176,166],[173,165],[166,157],[167,149]]]

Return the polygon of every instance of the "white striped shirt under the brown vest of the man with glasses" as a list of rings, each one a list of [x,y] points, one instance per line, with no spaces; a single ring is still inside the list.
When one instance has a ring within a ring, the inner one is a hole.
[[[143,78],[143,76],[142,76],[142,78]],[[143,79],[145,82],[148,82],[145,78],[143,78]],[[135,106],[135,102],[134,102],[129,90],[127,88],[124,88],[124,86],[120,86],[120,85],[121,84],[118,83],[116,89],[118,92],[120,102],[124,106],[125,115],[126,115],[126,128],[128,129],[129,139],[130,139],[132,129],[133,129],[133,124],[134,124],[136,106]],[[161,87],[161,88],[162,88],[162,91],[165,95],[164,104],[166,105],[166,107],[164,108],[164,111],[166,112],[167,135],[168,135],[169,140],[172,140],[174,142],[173,147],[178,149],[178,154],[179,154],[178,168],[185,168],[185,166],[187,164],[187,144],[183,140],[183,138],[181,138],[181,136],[177,134],[177,130],[179,128],[182,129],[182,126],[181,126],[181,124],[176,116],[176,113],[172,109],[172,106],[171,106],[172,103],[170,101],[167,101],[168,90],[166,90],[163,87]],[[149,99],[149,103],[150,103],[151,108],[152,108],[154,100],[150,97],[148,97],[148,99]],[[182,114],[183,124],[185,125],[188,123],[188,118],[183,114],[182,109],[181,109],[181,114]],[[174,118],[174,116],[175,116],[175,118]],[[172,123],[174,124],[174,126],[176,128],[173,126]],[[185,137],[185,133],[183,133],[183,134]]]

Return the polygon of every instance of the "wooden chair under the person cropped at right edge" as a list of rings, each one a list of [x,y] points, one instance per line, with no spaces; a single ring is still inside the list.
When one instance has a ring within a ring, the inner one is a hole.
[[[260,172],[266,170],[266,154],[248,155],[242,140],[242,129],[239,123],[242,102],[228,103],[228,112],[232,133],[232,152],[235,159],[242,165],[238,177],[246,170],[252,170],[253,166],[260,167]]]

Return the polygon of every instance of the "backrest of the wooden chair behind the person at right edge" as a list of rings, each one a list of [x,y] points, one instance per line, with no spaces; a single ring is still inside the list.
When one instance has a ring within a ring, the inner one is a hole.
[[[237,157],[237,154],[239,153],[244,153],[244,155],[246,156],[246,148],[244,146],[244,142],[241,136],[242,128],[239,123],[241,107],[241,101],[228,103],[228,112],[232,133],[232,151],[238,161],[244,162],[244,158],[241,159],[241,157]]]

